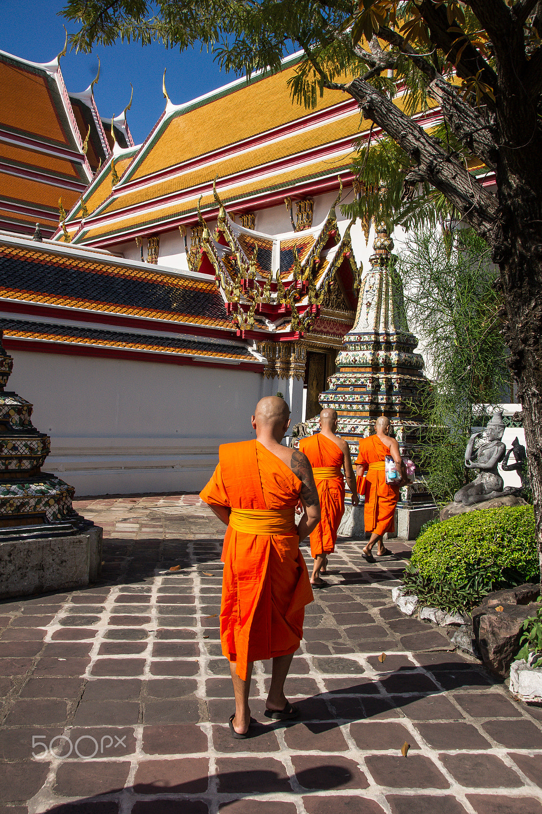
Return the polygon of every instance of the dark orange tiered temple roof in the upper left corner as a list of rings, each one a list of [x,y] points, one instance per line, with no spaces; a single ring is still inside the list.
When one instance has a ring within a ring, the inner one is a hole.
[[[59,57],[33,63],[0,51],[0,228],[50,236],[89,186],[111,147],[92,87],[68,94]],[[111,130],[111,125],[109,125]],[[125,118],[115,129],[133,145]]]

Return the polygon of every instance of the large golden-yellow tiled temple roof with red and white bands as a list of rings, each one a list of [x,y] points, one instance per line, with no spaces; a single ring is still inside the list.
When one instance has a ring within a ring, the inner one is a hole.
[[[310,111],[292,103],[288,81],[299,59],[285,59],[280,73],[236,80],[186,104],[168,101],[114,189],[105,175],[101,192],[93,185],[85,223],[70,212],[74,242],[111,246],[194,224],[200,196],[202,212],[213,217],[215,178],[230,212],[282,204],[285,194],[336,190],[338,173],[350,179],[354,141],[370,122],[339,91],[326,92]],[[375,138],[379,132],[373,129]],[[103,206],[96,208],[97,200]]]

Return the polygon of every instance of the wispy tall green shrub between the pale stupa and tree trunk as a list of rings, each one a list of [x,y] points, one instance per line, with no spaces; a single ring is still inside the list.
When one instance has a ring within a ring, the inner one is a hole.
[[[464,453],[474,405],[509,398],[497,272],[473,230],[428,227],[409,234],[396,272],[405,321],[421,340],[432,379],[411,405],[428,425],[420,466],[435,501],[448,503],[467,482]]]

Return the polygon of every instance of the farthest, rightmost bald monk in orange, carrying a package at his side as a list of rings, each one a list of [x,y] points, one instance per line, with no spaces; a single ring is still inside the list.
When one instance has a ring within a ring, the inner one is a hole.
[[[386,416],[377,418],[374,430],[374,435],[361,439],[356,457],[357,489],[360,494],[365,494],[365,532],[372,532],[369,542],[361,549],[367,562],[374,562],[371,549],[375,543],[378,543],[378,557],[391,554],[383,543],[383,536],[386,532],[395,531],[399,490],[407,482],[399,444],[395,438],[389,437],[390,419]],[[400,475],[393,486],[386,483],[384,459],[387,455],[393,458]]]

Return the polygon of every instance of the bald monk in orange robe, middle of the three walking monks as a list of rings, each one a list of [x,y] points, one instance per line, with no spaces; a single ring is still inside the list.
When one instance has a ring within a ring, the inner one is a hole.
[[[311,554],[314,559],[311,584],[324,588],[321,579],[327,571],[327,557],[335,550],[337,532],[344,514],[344,464],[348,487],[352,492],[352,505],[358,505],[356,478],[352,469],[350,448],[345,440],[335,435],[339,416],[334,409],[323,409],[320,414],[320,432],[299,441],[299,449],[313,467],[314,482],[320,498],[321,520],[311,534]]]

